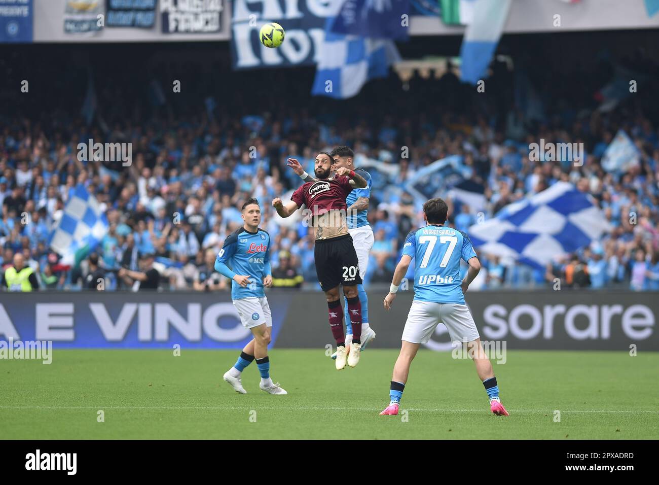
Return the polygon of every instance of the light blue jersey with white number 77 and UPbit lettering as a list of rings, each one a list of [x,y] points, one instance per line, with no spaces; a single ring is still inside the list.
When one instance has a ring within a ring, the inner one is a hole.
[[[460,259],[469,261],[476,257],[467,234],[429,224],[407,235],[403,254],[415,259],[415,300],[465,304],[460,287]]]

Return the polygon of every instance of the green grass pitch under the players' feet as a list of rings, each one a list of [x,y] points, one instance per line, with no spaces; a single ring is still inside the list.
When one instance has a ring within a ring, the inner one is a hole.
[[[341,372],[324,350],[270,351],[287,396],[221,376],[235,350],[55,350],[53,363],[0,360],[5,439],[656,439],[659,353],[516,350],[494,364],[510,416],[490,413],[473,363],[421,350],[401,409],[379,416],[397,350],[370,348]],[[103,410],[104,422],[98,422]],[[560,422],[554,421],[560,411]],[[405,418],[404,418],[405,417]],[[357,433],[357,436],[354,434]]]

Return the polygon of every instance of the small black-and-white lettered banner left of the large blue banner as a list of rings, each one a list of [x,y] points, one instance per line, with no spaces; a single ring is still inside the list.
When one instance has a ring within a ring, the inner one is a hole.
[[[222,30],[223,0],[160,0],[163,34]]]

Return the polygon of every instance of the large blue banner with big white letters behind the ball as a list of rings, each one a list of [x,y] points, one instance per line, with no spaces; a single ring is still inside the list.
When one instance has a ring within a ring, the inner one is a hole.
[[[314,65],[325,39],[325,20],[335,15],[332,2],[318,0],[233,0],[231,56],[233,69]],[[285,26],[277,49],[261,44],[258,33],[268,22]]]

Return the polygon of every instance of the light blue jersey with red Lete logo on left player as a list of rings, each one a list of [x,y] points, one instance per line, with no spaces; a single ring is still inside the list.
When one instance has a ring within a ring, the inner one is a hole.
[[[231,281],[231,298],[248,298],[266,296],[263,290],[263,278],[270,271],[270,234],[258,229],[255,233],[247,232],[244,227],[232,232],[224,241],[217,255],[217,263],[227,265],[235,275],[249,275],[250,284],[243,288],[237,282]]]

